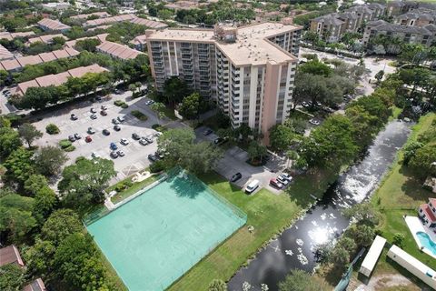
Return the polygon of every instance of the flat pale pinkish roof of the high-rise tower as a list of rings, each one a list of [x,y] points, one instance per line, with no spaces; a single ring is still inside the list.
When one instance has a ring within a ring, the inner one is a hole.
[[[266,22],[233,28],[236,29],[236,41],[233,43],[217,40],[212,29],[165,29],[154,32],[148,39],[216,44],[234,65],[265,65],[272,61],[295,60],[293,55],[272,44],[268,38],[300,30],[301,26]]]

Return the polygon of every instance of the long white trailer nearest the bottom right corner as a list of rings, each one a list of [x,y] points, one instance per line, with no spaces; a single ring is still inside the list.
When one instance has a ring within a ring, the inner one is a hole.
[[[421,263],[414,256],[404,252],[398,246],[391,246],[388,251],[388,256],[397,262],[400,266],[411,272],[414,276],[419,277],[425,284],[436,290],[436,272],[430,267]]]

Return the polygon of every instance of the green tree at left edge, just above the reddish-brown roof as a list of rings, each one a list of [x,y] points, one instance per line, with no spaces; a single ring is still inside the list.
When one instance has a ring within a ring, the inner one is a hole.
[[[17,194],[0,197],[0,232],[6,241],[22,242],[35,227],[33,204],[33,198]]]

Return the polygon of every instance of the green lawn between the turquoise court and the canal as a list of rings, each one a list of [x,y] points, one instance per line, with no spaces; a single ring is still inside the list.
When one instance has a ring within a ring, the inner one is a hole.
[[[247,226],[254,226],[254,231],[251,234],[246,226],[239,229],[170,286],[169,290],[207,290],[213,279],[228,281],[263,244],[299,216],[313,201],[310,194],[322,194],[336,176],[327,173],[299,176],[287,191],[289,195],[274,195],[262,189],[253,196],[245,195],[241,189],[218,174],[212,173],[200,178],[242,209],[248,216]]]

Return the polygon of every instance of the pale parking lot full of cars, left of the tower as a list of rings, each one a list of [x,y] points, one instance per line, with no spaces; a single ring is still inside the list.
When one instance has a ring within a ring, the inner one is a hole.
[[[118,172],[117,179],[122,179],[125,176],[134,174],[135,172],[150,165],[148,160],[149,154],[154,154],[157,149],[156,137],[153,137],[154,142],[147,146],[142,146],[137,140],[132,138],[134,133],[140,136],[153,136],[156,131],[152,128],[152,125],[157,124],[158,120],[154,115],[154,112],[148,105],[145,105],[146,98],[139,98],[127,101],[128,108],[121,108],[114,105],[114,100],[129,100],[129,92],[124,92],[119,95],[111,95],[102,101],[91,103],[90,101],[82,102],[78,105],[71,106],[66,109],[57,110],[53,114],[47,114],[43,116],[43,119],[36,122],[34,125],[42,132],[45,133],[45,126],[53,123],[57,125],[61,131],[58,135],[48,135],[37,140],[38,146],[57,146],[59,141],[67,139],[69,135],[78,134],[81,135],[81,139],[74,141],[73,145],[75,150],[67,153],[69,161],[67,165],[73,164],[75,158],[78,156],[85,156],[90,158],[92,153],[98,156],[114,160],[114,168]],[[102,105],[107,107],[107,115],[101,115]],[[91,119],[91,108],[95,108],[97,113],[96,119]],[[134,115],[130,113],[132,110],[140,110],[148,116],[147,121],[140,121]],[[77,116],[77,120],[72,120],[71,115]],[[114,130],[113,118],[118,116],[124,117],[124,122],[120,123],[120,131]],[[161,123],[168,120],[161,120]],[[94,135],[87,133],[88,127],[92,127],[95,131]],[[104,129],[109,130],[110,135],[104,135],[102,131]],[[85,142],[85,136],[91,136],[92,141]],[[120,144],[121,138],[126,138],[129,142],[127,146]],[[118,156],[112,158],[110,156],[111,149],[110,144],[114,142],[118,149],[124,151],[125,156]]]

